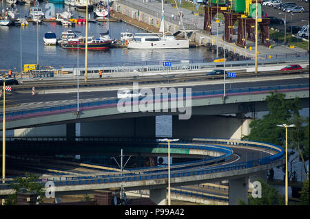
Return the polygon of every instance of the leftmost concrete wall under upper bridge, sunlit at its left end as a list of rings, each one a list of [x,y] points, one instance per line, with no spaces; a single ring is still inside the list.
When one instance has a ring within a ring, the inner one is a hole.
[[[65,137],[66,125],[19,128],[14,130],[14,137]]]

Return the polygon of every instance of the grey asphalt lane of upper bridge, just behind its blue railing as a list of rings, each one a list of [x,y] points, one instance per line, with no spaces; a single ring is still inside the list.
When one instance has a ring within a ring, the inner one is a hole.
[[[238,76],[237,76],[238,77]],[[223,79],[222,79],[223,80]],[[227,78],[226,89],[241,89],[245,87],[274,87],[279,85],[292,85],[292,84],[307,84],[309,83],[309,78],[298,78],[289,80],[271,80],[271,81],[260,81],[260,82],[242,82],[242,83],[232,83],[234,79]],[[212,80],[207,80],[212,81]],[[169,85],[169,84],[167,84]],[[167,86],[167,89],[170,87]],[[191,88],[192,92],[198,91],[216,91],[223,89],[223,84],[206,84],[194,87],[175,87],[176,91],[178,88]],[[152,92],[155,93],[155,89]],[[92,98],[103,98],[103,97],[117,97],[117,91],[94,91],[94,92],[79,92],[79,99],[92,99]],[[31,95],[31,93],[11,93],[6,95],[7,100],[12,100],[12,104],[23,104],[32,102],[50,102],[50,101],[60,101],[60,100],[77,100],[77,93],[51,93],[42,95]]]

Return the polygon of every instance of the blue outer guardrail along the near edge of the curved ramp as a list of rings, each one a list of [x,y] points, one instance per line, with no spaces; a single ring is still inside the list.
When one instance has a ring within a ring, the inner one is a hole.
[[[220,144],[227,143],[229,145],[230,141],[229,139],[223,140],[223,139],[202,139],[203,141],[211,141],[211,142],[217,142]],[[216,167],[201,167],[198,170],[189,168],[189,169],[182,169],[178,171],[173,171],[171,173],[171,178],[178,178],[178,177],[185,177],[185,176],[198,176],[202,174],[214,174],[218,172],[227,172],[227,171],[234,171],[234,170],[242,170],[246,168],[253,168],[258,165],[266,165],[269,163],[273,163],[275,161],[278,161],[282,159],[284,150],[280,146],[275,146],[271,143],[259,143],[257,141],[236,141],[234,140],[234,143],[238,143],[242,146],[249,146],[249,147],[270,147],[271,150],[278,150],[277,154],[271,155],[269,157],[264,157],[261,159],[254,159],[247,162],[239,162],[239,163],[232,163],[232,164],[225,164],[225,165],[218,165]],[[155,168],[156,171],[156,168]],[[122,175],[121,175],[122,174]],[[59,178],[59,180],[56,178],[53,178],[56,186],[68,186],[68,185],[89,185],[89,184],[99,184],[99,183],[121,183],[121,182],[132,182],[132,181],[147,181],[152,179],[163,179],[167,178],[167,170],[163,172],[155,172],[150,174],[127,174],[127,173],[118,173],[118,174],[98,174],[98,175],[92,175],[92,176],[63,176],[63,178]],[[70,179],[68,179],[70,178]],[[44,182],[38,182],[41,185],[45,185]],[[0,189],[9,189],[8,184],[0,185]],[[212,197],[215,198],[215,197]]]

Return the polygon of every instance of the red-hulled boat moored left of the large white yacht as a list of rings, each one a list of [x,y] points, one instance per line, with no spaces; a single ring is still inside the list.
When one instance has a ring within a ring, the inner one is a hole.
[[[107,50],[110,49],[112,41],[104,41],[100,38],[95,39],[93,36],[87,37],[87,49]],[[85,36],[70,38],[67,42],[61,43],[64,49],[85,49]]]

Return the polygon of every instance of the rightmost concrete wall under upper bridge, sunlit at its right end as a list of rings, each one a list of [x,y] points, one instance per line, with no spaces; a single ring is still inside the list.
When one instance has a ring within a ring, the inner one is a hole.
[[[251,119],[227,116],[193,115],[187,120],[173,116],[172,136],[240,139],[243,135],[249,135],[250,122]]]

